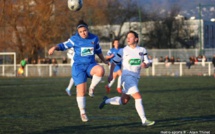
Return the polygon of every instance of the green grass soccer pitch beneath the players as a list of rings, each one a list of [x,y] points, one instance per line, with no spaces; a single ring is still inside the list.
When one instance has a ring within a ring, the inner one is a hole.
[[[83,123],[79,117],[75,87],[71,97],[65,92],[69,79],[0,78],[0,133],[215,133],[213,77],[142,77],[139,89],[146,116],[156,121],[151,127],[141,126],[133,99],[127,105],[105,105],[100,110],[98,106],[106,95],[106,82],[96,87],[94,98],[86,97],[90,120]],[[108,97],[118,95],[112,88]]]

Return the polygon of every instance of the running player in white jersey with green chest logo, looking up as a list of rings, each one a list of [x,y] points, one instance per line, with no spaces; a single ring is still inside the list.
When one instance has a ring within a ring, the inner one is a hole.
[[[122,62],[122,96],[113,98],[104,97],[99,108],[102,109],[106,104],[125,105],[129,102],[130,97],[135,99],[135,108],[142,121],[143,126],[151,126],[155,121],[147,120],[142,97],[138,89],[138,81],[140,78],[141,68],[147,68],[149,64],[146,49],[137,45],[138,34],[134,31],[129,31],[127,34],[127,46],[120,49],[111,64],[111,70],[108,77],[108,82],[113,79],[113,70],[117,63]]]

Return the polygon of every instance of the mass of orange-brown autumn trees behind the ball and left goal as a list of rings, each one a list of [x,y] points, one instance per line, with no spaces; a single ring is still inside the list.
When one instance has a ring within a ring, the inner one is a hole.
[[[45,48],[74,34],[80,19],[90,25],[104,22],[98,4],[104,5],[99,0],[85,0],[80,11],[72,12],[61,0],[0,1],[0,49],[17,52],[18,60],[26,56],[37,60],[45,56]]]

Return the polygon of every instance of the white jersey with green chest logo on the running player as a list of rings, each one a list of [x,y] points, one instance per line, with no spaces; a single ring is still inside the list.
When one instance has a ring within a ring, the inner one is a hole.
[[[113,61],[116,64],[122,61],[122,77],[131,75],[137,78],[140,78],[141,63],[149,63],[146,49],[139,46],[136,48],[126,46],[120,49]]]

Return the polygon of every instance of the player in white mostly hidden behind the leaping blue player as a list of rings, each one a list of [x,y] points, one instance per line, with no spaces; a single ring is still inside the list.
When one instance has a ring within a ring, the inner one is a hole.
[[[70,48],[70,49],[68,50],[68,52],[67,52],[67,57],[69,57],[70,60],[71,60],[71,67],[72,67],[73,62],[74,62],[74,60],[73,60],[74,54],[75,54],[75,53],[74,53],[74,49],[73,49],[73,48]],[[68,85],[68,87],[66,88],[66,93],[67,93],[69,96],[72,95],[71,89],[72,89],[73,84],[74,84],[74,80],[73,80],[73,78],[71,77],[71,79],[70,79],[70,81],[69,81],[69,85]]]

